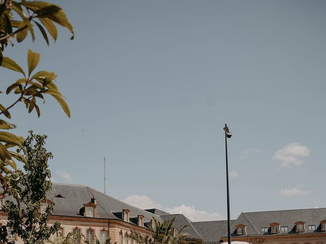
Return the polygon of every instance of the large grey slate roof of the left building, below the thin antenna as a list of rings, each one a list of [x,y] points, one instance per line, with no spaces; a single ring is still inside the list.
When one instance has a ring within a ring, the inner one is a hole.
[[[59,195],[63,198],[58,197]],[[122,211],[122,209],[129,209],[130,219],[138,215],[143,215],[144,223],[149,222],[152,217],[160,220],[159,216],[151,212],[129,205],[93,188],[61,183],[52,183],[52,190],[48,194],[48,198],[55,203],[52,215],[83,217],[82,208],[84,207],[84,203],[90,202],[93,196],[95,196],[97,201],[97,218],[119,219],[113,212],[116,213]]]

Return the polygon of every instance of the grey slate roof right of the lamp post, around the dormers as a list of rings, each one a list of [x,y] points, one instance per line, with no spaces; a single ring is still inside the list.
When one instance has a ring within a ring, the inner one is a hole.
[[[231,225],[231,233],[236,236],[236,225],[246,225],[246,235],[271,235],[270,224],[273,222],[280,223],[280,227],[288,226],[288,232],[272,234],[301,234],[295,232],[295,222],[303,221],[305,223],[304,233],[318,233],[321,230],[320,221],[326,220],[326,208],[310,208],[310,209],[292,209],[262,212],[242,212],[239,217]],[[308,231],[308,225],[315,225],[315,231]],[[268,227],[268,233],[261,233],[262,227]],[[227,237],[227,232],[223,237]]]

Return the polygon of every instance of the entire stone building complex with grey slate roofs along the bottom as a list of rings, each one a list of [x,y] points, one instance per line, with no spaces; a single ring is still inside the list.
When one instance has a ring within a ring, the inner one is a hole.
[[[59,221],[63,236],[79,232],[91,243],[95,238],[103,243],[111,236],[113,243],[136,244],[125,233],[150,234],[147,226],[153,217],[158,221],[175,218],[175,231],[188,226],[184,232],[208,244],[227,241],[225,220],[192,222],[181,214],[134,207],[87,186],[53,183],[47,198],[40,211],[50,202],[55,203],[49,224]],[[0,211],[0,218],[6,222],[5,212]],[[231,221],[231,230],[232,240],[249,241],[253,236],[263,236],[268,244],[326,244],[326,208],[241,213]],[[8,232],[10,239],[22,243],[15,233]]]

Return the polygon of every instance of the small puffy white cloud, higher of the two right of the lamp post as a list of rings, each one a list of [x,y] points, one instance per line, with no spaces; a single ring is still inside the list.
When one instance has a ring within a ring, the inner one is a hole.
[[[308,147],[294,142],[285,145],[282,149],[274,153],[273,159],[280,160],[281,167],[300,166],[303,164],[301,158],[307,157],[310,154]]]

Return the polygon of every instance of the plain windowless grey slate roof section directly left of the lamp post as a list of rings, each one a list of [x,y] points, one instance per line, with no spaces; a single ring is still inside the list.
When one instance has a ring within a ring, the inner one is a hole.
[[[234,221],[230,221],[231,225]],[[227,220],[193,222],[192,224],[203,240],[209,243],[220,242],[223,234],[228,231]]]

